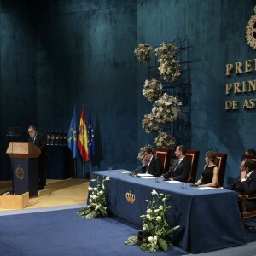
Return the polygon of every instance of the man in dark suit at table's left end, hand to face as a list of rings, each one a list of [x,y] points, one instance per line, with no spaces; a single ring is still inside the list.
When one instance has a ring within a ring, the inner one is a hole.
[[[143,158],[143,173],[159,177],[163,173],[163,168],[162,161],[154,156],[152,148],[146,148]]]

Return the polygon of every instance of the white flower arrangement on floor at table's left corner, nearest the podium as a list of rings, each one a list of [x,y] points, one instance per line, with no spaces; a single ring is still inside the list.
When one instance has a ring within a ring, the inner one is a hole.
[[[105,183],[109,180],[109,177],[103,178],[102,181],[99,177],[90,180],[91,182],[96,182],[96,186],[94,188],[88,187],[90,191],[90,205],[78,212],[82,218],[97,218],[108,215]]]

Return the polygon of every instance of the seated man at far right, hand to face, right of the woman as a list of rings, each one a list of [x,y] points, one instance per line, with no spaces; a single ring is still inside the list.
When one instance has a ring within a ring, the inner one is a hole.
[[[240,175],[236,178],[235,183],[224,187],[224,189],[234,190],[239,194],[254,194],[256,193],[256,170],[254,170],[254,163],[251,159],[241,161]],[[255,200],[246,201],[247,208],[256,206]]]

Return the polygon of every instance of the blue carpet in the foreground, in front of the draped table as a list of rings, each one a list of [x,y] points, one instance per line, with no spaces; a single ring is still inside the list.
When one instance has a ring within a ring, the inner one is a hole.
[[[184,255],[177,247],[167,253],[145,253],[124,241],[137,227],[113,218],[84,219],[78,209],[0,217],[0,255]]]

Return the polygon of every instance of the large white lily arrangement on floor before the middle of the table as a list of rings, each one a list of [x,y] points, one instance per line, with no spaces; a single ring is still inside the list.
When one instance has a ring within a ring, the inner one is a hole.
[[[126,245],[138,245],[143,251],[156,252],[157,250],[167,251],[168,245],[172,245],[170,234],[179,228],[169,227],[166,221],[166,213],[171,208],[167,205],[170,195],[158,194],[152,190],[152,200],[148,201],[147,214],[141,215],[143,218],[143,230],[138,231],[137,236],[131,236],[126,241]]]

